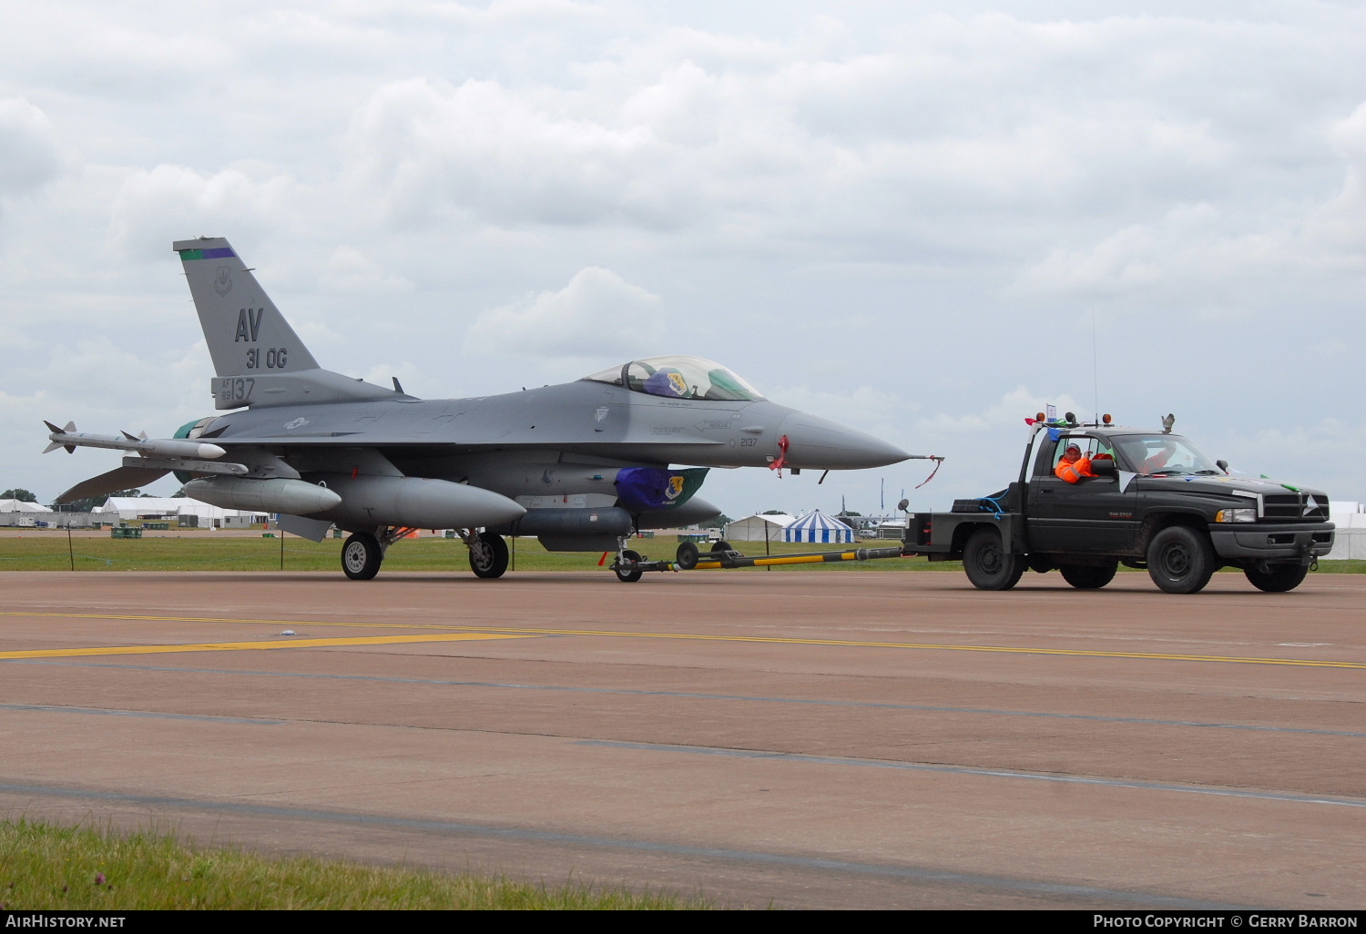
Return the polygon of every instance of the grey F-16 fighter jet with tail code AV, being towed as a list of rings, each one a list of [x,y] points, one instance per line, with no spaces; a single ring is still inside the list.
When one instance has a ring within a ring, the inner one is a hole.
[[[342,569],[374,578],[414,528],[455,528],[470,568],[499,578],[507,535],[552,552],[617,552],[643,528],[703,522],[712,467],[856,470],[910,457],[862,431],[779,406],[719,363],[653,356],[575,382],[474,399],[418,399],[324,370],[223,238],[173,244],[216,376],[210,415],[172,438],[92,436],[48,423],[59,447],[130,452],[59,501],[145,486],[279,513],[285,531],[350,533]],[[673,467],[682,464],[684,467]],[[824,478],[822,478],[824,479]],[[622,574],[623,580],[632,579]],[[634,579],[638,579],[635,574]]]

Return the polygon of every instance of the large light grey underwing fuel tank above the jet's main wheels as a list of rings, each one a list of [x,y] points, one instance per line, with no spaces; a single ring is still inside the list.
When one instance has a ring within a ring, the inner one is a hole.
[[[310,519],[410,528],[484,528],[526,515],[515,500],[451,481],[348,474],[316,474],[313,478],[339,493],[342,501]]]

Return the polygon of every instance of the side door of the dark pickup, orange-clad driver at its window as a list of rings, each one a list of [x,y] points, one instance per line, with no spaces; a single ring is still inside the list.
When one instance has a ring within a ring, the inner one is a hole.
[[[1059,478],[1053,468],[1070,444],[1079,445],[1086,457],[1115,456],[1109,441],[1091,436],[1063,436],[1044,447],[1030,478],[1030,549],[1078,554],[1132,550],[1138,535],[1138,492],[1126,493],[1117,477],[1085,477],[1076,483]]]

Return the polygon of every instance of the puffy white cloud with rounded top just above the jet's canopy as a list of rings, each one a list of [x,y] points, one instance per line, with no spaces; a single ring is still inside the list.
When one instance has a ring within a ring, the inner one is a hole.
[[[464,339],[467,352],[550,358],[617,358],[658,354],[664,303],[611,269],[587,266],[557,292],[529,295],[481,314]]]

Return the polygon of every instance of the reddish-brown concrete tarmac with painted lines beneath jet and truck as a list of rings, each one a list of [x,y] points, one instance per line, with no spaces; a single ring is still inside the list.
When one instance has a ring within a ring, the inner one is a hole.
[[[0,815],[727,905],[1359,908],[1363,609],[1354,575],[12,572]]]

